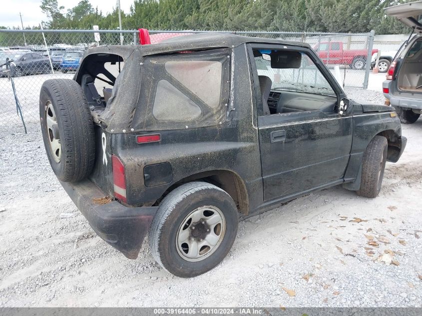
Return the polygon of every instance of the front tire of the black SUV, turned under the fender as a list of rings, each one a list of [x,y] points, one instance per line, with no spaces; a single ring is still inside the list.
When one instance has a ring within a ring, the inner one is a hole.
[[[386,168],[388,143],[384,136],[375,136],[368,144],[362,161],[361,187],[356,193],[375,198],[381,190]]]

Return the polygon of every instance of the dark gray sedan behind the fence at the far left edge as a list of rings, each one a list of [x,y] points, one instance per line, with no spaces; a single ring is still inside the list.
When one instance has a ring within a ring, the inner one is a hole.
[[[13,77],[19,77],[24,74],[49,73],[51,70],[48,58],[37,53],[16,50],[6,52],[0,56],[0,75],[3,76],[7,74],[6,58],[13,60],[10,64],[10,74]]]

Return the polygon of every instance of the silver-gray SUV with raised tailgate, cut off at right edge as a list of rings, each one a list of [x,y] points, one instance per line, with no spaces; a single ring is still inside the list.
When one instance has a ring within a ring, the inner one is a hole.
[[[415,33],[397,53],[383,82],[384,96],[396,108],[400,121],[412,124],[422,111],[422,1],[391,6],[386,13]]]

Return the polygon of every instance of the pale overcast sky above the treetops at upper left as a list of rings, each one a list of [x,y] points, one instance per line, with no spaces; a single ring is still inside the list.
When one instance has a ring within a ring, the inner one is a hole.
[[[79,1],[80,0],[58,0],[58,5],[64,6],[62,12],[65,13],[67,12],[67,9],[76,6]],[[22,14],[24,27],[38,25],[41,21],[48,20],[47,16],[42,13],[39,8],[41,0],[1,0],[1,2],[1,26],[20,27],[19,12]],[[5,2],[8,2],[8,4]],[[94,8],[98,6],[98,10],[102,11],[103,14],[111,12],[113,7],[117,6],[117,0],[90,0],[90,2]],[[133,0],[120,0],[120,7],[124,12],[128,13],[132,3]]]

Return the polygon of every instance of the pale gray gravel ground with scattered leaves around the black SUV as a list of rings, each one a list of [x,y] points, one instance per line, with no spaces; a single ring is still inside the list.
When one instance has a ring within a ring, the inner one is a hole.
[[[381,93],[348,90],[384,103]],[[38,124],[0,138],[0,307],[422,306],[422,119],[378,198],[341,186],[240,223],[227,258],[194,279],[128,260],[97,237],[56,180]]]

